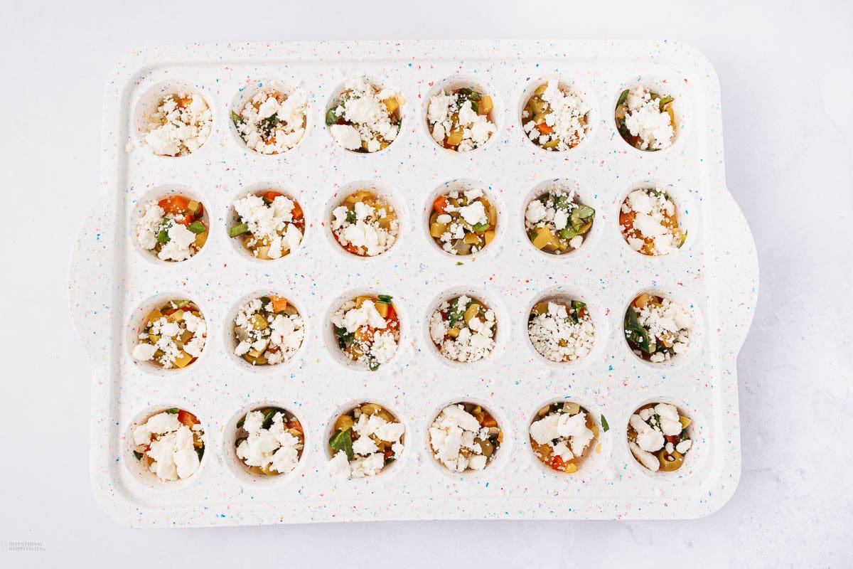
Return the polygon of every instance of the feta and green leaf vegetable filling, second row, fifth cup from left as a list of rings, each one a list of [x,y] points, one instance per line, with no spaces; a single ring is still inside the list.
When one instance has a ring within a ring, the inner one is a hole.
[[[579,249],[595,222],[595,210],[573,190],[551,189],[525,208],[525,231],[533,247],[560,255]]]

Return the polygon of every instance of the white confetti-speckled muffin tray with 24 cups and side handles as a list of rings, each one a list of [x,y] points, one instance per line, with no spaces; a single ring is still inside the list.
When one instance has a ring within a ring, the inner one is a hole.
[[[400,136],[376,154],[340,148],[324,122],[345,78],[367,75],[406,98]],[[454,154],[432,141],[425,102],[444,81],[473,80],[495,101],[498,131],[485,147]],[[519,113],[543,79],[573,84],[592,107],[591,132],[577,148],[548,153],[529,142]],[[274,156],[247,149],[229,114],[244,90],[286,84],[308,96],[307,130]],[[676,96],[679,131],[660,152],[631,148],[613,109],[632,84]],[[137,132],[142,107],[163,90],[200,92],[212,135],[194,154],[161,157]],[[69,301],[93,367],[91,481],[115,520],[134,526],[253,525],[354,520],[672,519],[721,508],[740,477],[735,357],[757,299],[757,257],[746,221],[726,189],[720,91],[711,64],[672,42],[457,41],[195,44],[127,56],[110,76],[103,115],[101,193],[73,251]],[[577,184],[596,211],[577,252],[537,251],[524,231],[525,205],[542,184]],[[473,257],[442,253],[428,235],[433,197],[454,180],[480,183],[500,211],[496,240]],[[653,181],[678,203],[688,240],[678,253],[647,258],[624,242],[618,209]],[[401,218],[397,244],[356,258],[331,237],[333,202],[374,184]],[[177,188],[197,196],[211,222],[194,258],[166,264],[136,246],[138,206]],[[230,204],[254,189],[280,189],[305,210],[299,249],[276,261],[248,257],[229,240]],[[673,365],[642,362],[622,333],[636,294],[658,290],[690,305],[691,350]],[[329,317],[359,292],[391,294],[401,347],[376,372],[342,363]],[[497,347],[485,361],[450,365],[427,333],[432,308],[454,292],[474,293],[496,311]],[[289,363],[252,369],[231,353],[230,318],[248,295],[274,292],[305,317],[306,337]],[[526,332],[531,306],[564,292],[585,300],[597,340],[580,363],[546,362]],[[157,299],[188,298],[208,322],[199,361],[157,371],[131,357],[133,334]],[[548,471],[531,451],[537,409],[571,399],[606,415],[609,431],[575,474]],[[653,474],[630,455],[630,414],[649,401],[678,404],[693,419],[693,450],[676,473]],[[328,473],[331,421],[346,405],[376,401],[406,426],[403,455],[372,479]],[[496,460],[479,473],[453,474],[436,462],[427,428],[445,404],[490,409],[505,433]],[[233,456],[235,422],[274,403],[305,427],[293,473],[253,479]],[[200,470],[178,483],[144,476],[131,455],[131,425],[180,407],[206,432]]]

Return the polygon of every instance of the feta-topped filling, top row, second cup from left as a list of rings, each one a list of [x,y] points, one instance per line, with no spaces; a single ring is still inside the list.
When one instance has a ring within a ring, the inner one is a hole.
[[[249,148],[260,154],[280,154],[305,134],[305,93],[286,96],[276,90],[259,90],[236,116],[237,132]]]

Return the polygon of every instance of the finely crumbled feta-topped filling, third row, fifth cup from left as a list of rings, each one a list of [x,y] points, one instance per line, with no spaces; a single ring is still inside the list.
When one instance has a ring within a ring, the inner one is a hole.
[[[577,316],[579,311],[583,316]],[[595,344],[595,326],[589,312],[553,301],[548,302],[548,311],[531,315],[527,334],[536,351],[552,362],[579,360],[589,355]]]

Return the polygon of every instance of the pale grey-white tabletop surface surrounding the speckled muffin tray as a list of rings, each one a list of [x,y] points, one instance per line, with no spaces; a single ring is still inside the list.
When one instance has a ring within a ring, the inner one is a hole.
[[[0,3],[0,566],[853,566],[853,3],[87,4]],[[667,522],[136,531],[107,519],[89,487],[89,364],[66,272],[96,197],[113,63],[190,41],[550,37],[677,39],[717,67],[728,187],[762,280],[738,365],[731,502]]]

